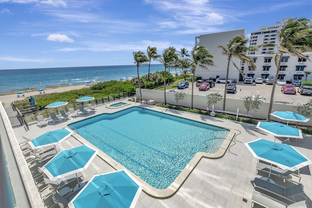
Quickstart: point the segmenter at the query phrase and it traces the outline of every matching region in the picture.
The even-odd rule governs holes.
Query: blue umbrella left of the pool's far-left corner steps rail
[[[68,129],[59,129],[52,132],[46,132],[44,134],[41,134],[40,136],[32,139],[29,142],[29,145],[33,149],[43,148],[51,145],[55,145],[63,141],[64,139],[67,139],[73,134],[72,131],[69,131]]]

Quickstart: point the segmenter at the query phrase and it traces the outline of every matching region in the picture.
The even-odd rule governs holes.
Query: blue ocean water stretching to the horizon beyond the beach
[[[150,73],[163,71],[162,64],[153,64]],[[148,74],[148,65],[139,67],[139,75]],[[0,95],[29,88],[41,89],[54,86],[80,85],[100,81],[137,77],[136,65],[88,66],[43,69],[0,70]]]

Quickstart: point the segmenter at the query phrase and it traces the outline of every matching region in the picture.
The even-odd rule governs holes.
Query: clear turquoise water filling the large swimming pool
[[[197,152],[216,152],[229,130],[132,107],[71,124],[79,135],[156,189],[166,189]],[[215,132],[217,131],[217,132]]]

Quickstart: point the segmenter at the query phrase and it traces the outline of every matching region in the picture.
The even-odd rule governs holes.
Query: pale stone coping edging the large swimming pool
[[[134,106],[131,105],[131,106],[127,106],[127,107],[130,108],[130,107],[134,107]],[[148,108],[149,106],[145,105],[144,107]],[[153,107],[155,107],[155,106],[153,106]],[[148,109],[149,110],[154,110],[154,111],[160,112],[160,113],[166,113],[166,114],[171,114],[171,115],[175,115],[175,116],[178,116],[178,117],[185,118],[185,117],[183,117],[180,114],[164,112],[165,108],[161,108],[161,107],[157,107],[157,108],[153,108],[153,109],[148,108]],[[183,112],[183,111],[177,111],[177,112],[183,113],[184,115],[194,114],[194,113]],[[108,114],[112,114],[112,113],[108,113]],[[104,162],[106,162],[108,165],[110,165],[112,168],[114,168],[115,170],[128,170],[130,172],[130,174],[133,177],[135,177],[137,179],[137,181],[143,186],[143,191],[146,194],[148,194],[149,196],[152,196],[154,198],[170,198],[180,189],[180,187],[183,185],[184,181],[188,178],[188,176],[191,174],[191,172],[195,169],[196,165],[199,163],[201,158],[204,157],[204,158],[209,158],[209,159],[218,159],[218,158],[222,157],[226,153],[228,148],[230,147],[230,144],[231,144],[231,142],[232,142],[232,140],[234,139],[234,136],[235,136],[235,132],[232,129],[229,129],[229,128],[226,128],[226,127],[223,127],[223,126],[220,126],[220,125],[214,125],[214,124],[212,124],[212,123],[210,123],[208,121],[203,122],[203,121],[200,121],[200,120],[195,120],[194,118],[190,118],[190,117],[188,117],[187,119],[191,119],[191,120],[194,120],[194,121],[197,121],[197,122],[201,122],[201,123],[213,125],[213,126],[216,126],[216,127],[228,129],[230,132],[228,133],[227,137],[224,139],[222,145],[220,146],[220,148],[219,148],[219,150],[217,152],[215,152],[215,153],[197,152],[195,154],[195,156],[191,159],[191,161],[186,165],[186,167],[176,177],[174,182],[166,189],[156,189],[156,188],[152,187],[151,185],[146,183],[144,180],[139,178],[137,175],[132,173],[130,170],[128,170],[125,167],[123,167],[120,163],[118,163],[116,160],[111,158],[109,155],[105,154],[103,151],[99,150],[96,146],[91,144],[89,141],[85,140],[79,134],[74,133],[72,136],[74,138],[76,138],[80,143],[88,144],[91,147],[93,147],[96,150],[98,150],[98,157],[100,159],[102,159]]]

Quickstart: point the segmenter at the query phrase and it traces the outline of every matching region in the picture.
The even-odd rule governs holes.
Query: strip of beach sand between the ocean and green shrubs
[[[88,88],[89,86],[86,86],[85,84],[82,85],[70,85],[70,86],[57,86],[57,87],[46,87],[44,91],[45,94],[50,94],[50,93],[61,93],[61,92],[66,92],[66,91],[71,91],[71,90],[79,90],[82,88]],[[4,108],[8,108],[11,106],[13,101],[16,100],[23,100],[25,99],[25,102],[28,102],[28,98],[30,95],[39,95],[40,92],[38,92],[38,89],[30,89],[27,91],[24,91],[24,94],[19,94],[20,97],[18,97],[18,94],[6,94],[6,95],[0,95],[0,102],[3,104]],[[23,96],[24,95],[24,96]]]

